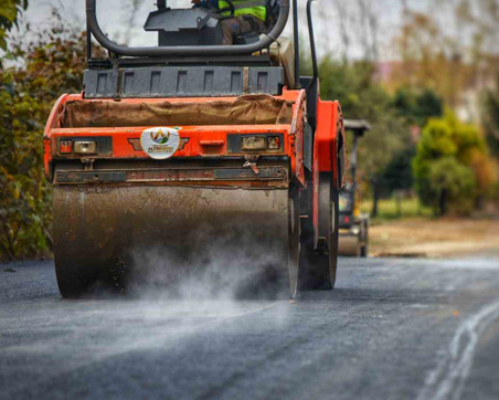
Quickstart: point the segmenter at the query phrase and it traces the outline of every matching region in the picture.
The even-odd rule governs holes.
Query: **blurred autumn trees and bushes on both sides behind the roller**
[[[127,7],[136,11],[140,3],[128,0]],[[385,209],[394,217],[470,214],[490,204],[493,210],[499,0],[437,0],[432,13],[401,3],[390,60],[380,56],[382,1],[330,0],[326,10],[337,11],[335,34],[343,46],[321,56],[321,96],[339,99],[346,118],[372,125],[359,154],[363,207],[374,217]],[[43,126],[61,94],[82,90],[85,69],[85,34],[63,23],[56,10],[41,29],[18,29],[26,8],[25,0],[0,0],[0,259],[6,260],[50,254]],[[456,30],[445,29],[450,22]],[[351,56],[355,40],[361,54]],[[304,74],[310,74],[307,41]]]

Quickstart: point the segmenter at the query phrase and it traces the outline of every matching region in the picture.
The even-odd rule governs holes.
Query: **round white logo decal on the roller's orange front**
[[[142,131],[140,145],[144,152],[156,160],[166,160],[176,154],[180,146],[180,128],[150,128]]]

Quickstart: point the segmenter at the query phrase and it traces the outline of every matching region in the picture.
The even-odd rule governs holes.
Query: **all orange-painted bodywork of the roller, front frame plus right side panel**
[[[307,115],[306,91],[288,91],[284,88],[280,96],[276,98],[293,103],[293,122],[290,125],[236,125],[236,126],[183,126],[181,137],[188,139],[182,149],[179,149],[173,158],[220,158],[227,156],[227,135],[230,134],[284,134],[284,150],[277,156],[287,156],[290,162],[291,176],[304,188],[307,187],[304,170],[304,122]],[[88,137],[88,136],[110,136],[113,137],[113,152],[110,156],[97,157],[104,159],[148,159],[148,156],[134,145],[140,139],[140,134],[150,128],[144,127],[106,127],[106,128],[63,128],[60,116],[64,112],[64,106],[71,101],[95,102],[85,99],[83,94],[62,95],[55,103],[45,126],[44,139],[44,169],[49,180],[52,179],[53,162],[57,159],[67,160],[79,158],[75,156],[62,156],[57,152],[56,144],[60,138]],[[99,102],[114,102],[114,99],[98,99]],[[120,102],[127,103],[187,103],[187,102],[211,102],[212,97],[195,98],[124,98]],[[235,97],[221,97],[216,101],[235,101]],[[318,101],[317,107],[317,129],[314,143],[312,159],[312,183],[314,183],[314,227],[318,227],[319,221],[319,173],[332,172],[335,185],[339,189],[343,185],[343,177],[338,176],[338,152],[340,150],[340,137],[344,143],[344,130],[342,126],[342,114],[338,102]],[[343,146],[344,151],[344,146]]]

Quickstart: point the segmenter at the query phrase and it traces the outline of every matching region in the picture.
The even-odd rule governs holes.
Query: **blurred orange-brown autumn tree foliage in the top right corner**
[[[432,10],[405,9],[395,38],[401,62],[389,85],[429,87],[463,118],[479,122],[477,94],[499,72],[499,0],[439,0]]]

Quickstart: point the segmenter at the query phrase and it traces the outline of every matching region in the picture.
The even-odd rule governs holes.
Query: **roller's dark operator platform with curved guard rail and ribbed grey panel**
[[[294,43],[280,38],[290,1],[295,6]],[[158,32],[158,44],[136,48],[113,42],[103,32],[96,2],[86,0],[85,98],[276,96],[284,87],[299,87],[297,0],[266,0],[267,32],[236,38],[233,45],[222,45],[221,23],[234,11],[198,6],[174,9],[166,0],[157,0],[157,9],[144,28]],[[231,0],[225,2],[232,4]],[[109,57],[93,56],[92,39],[109,52]]]

